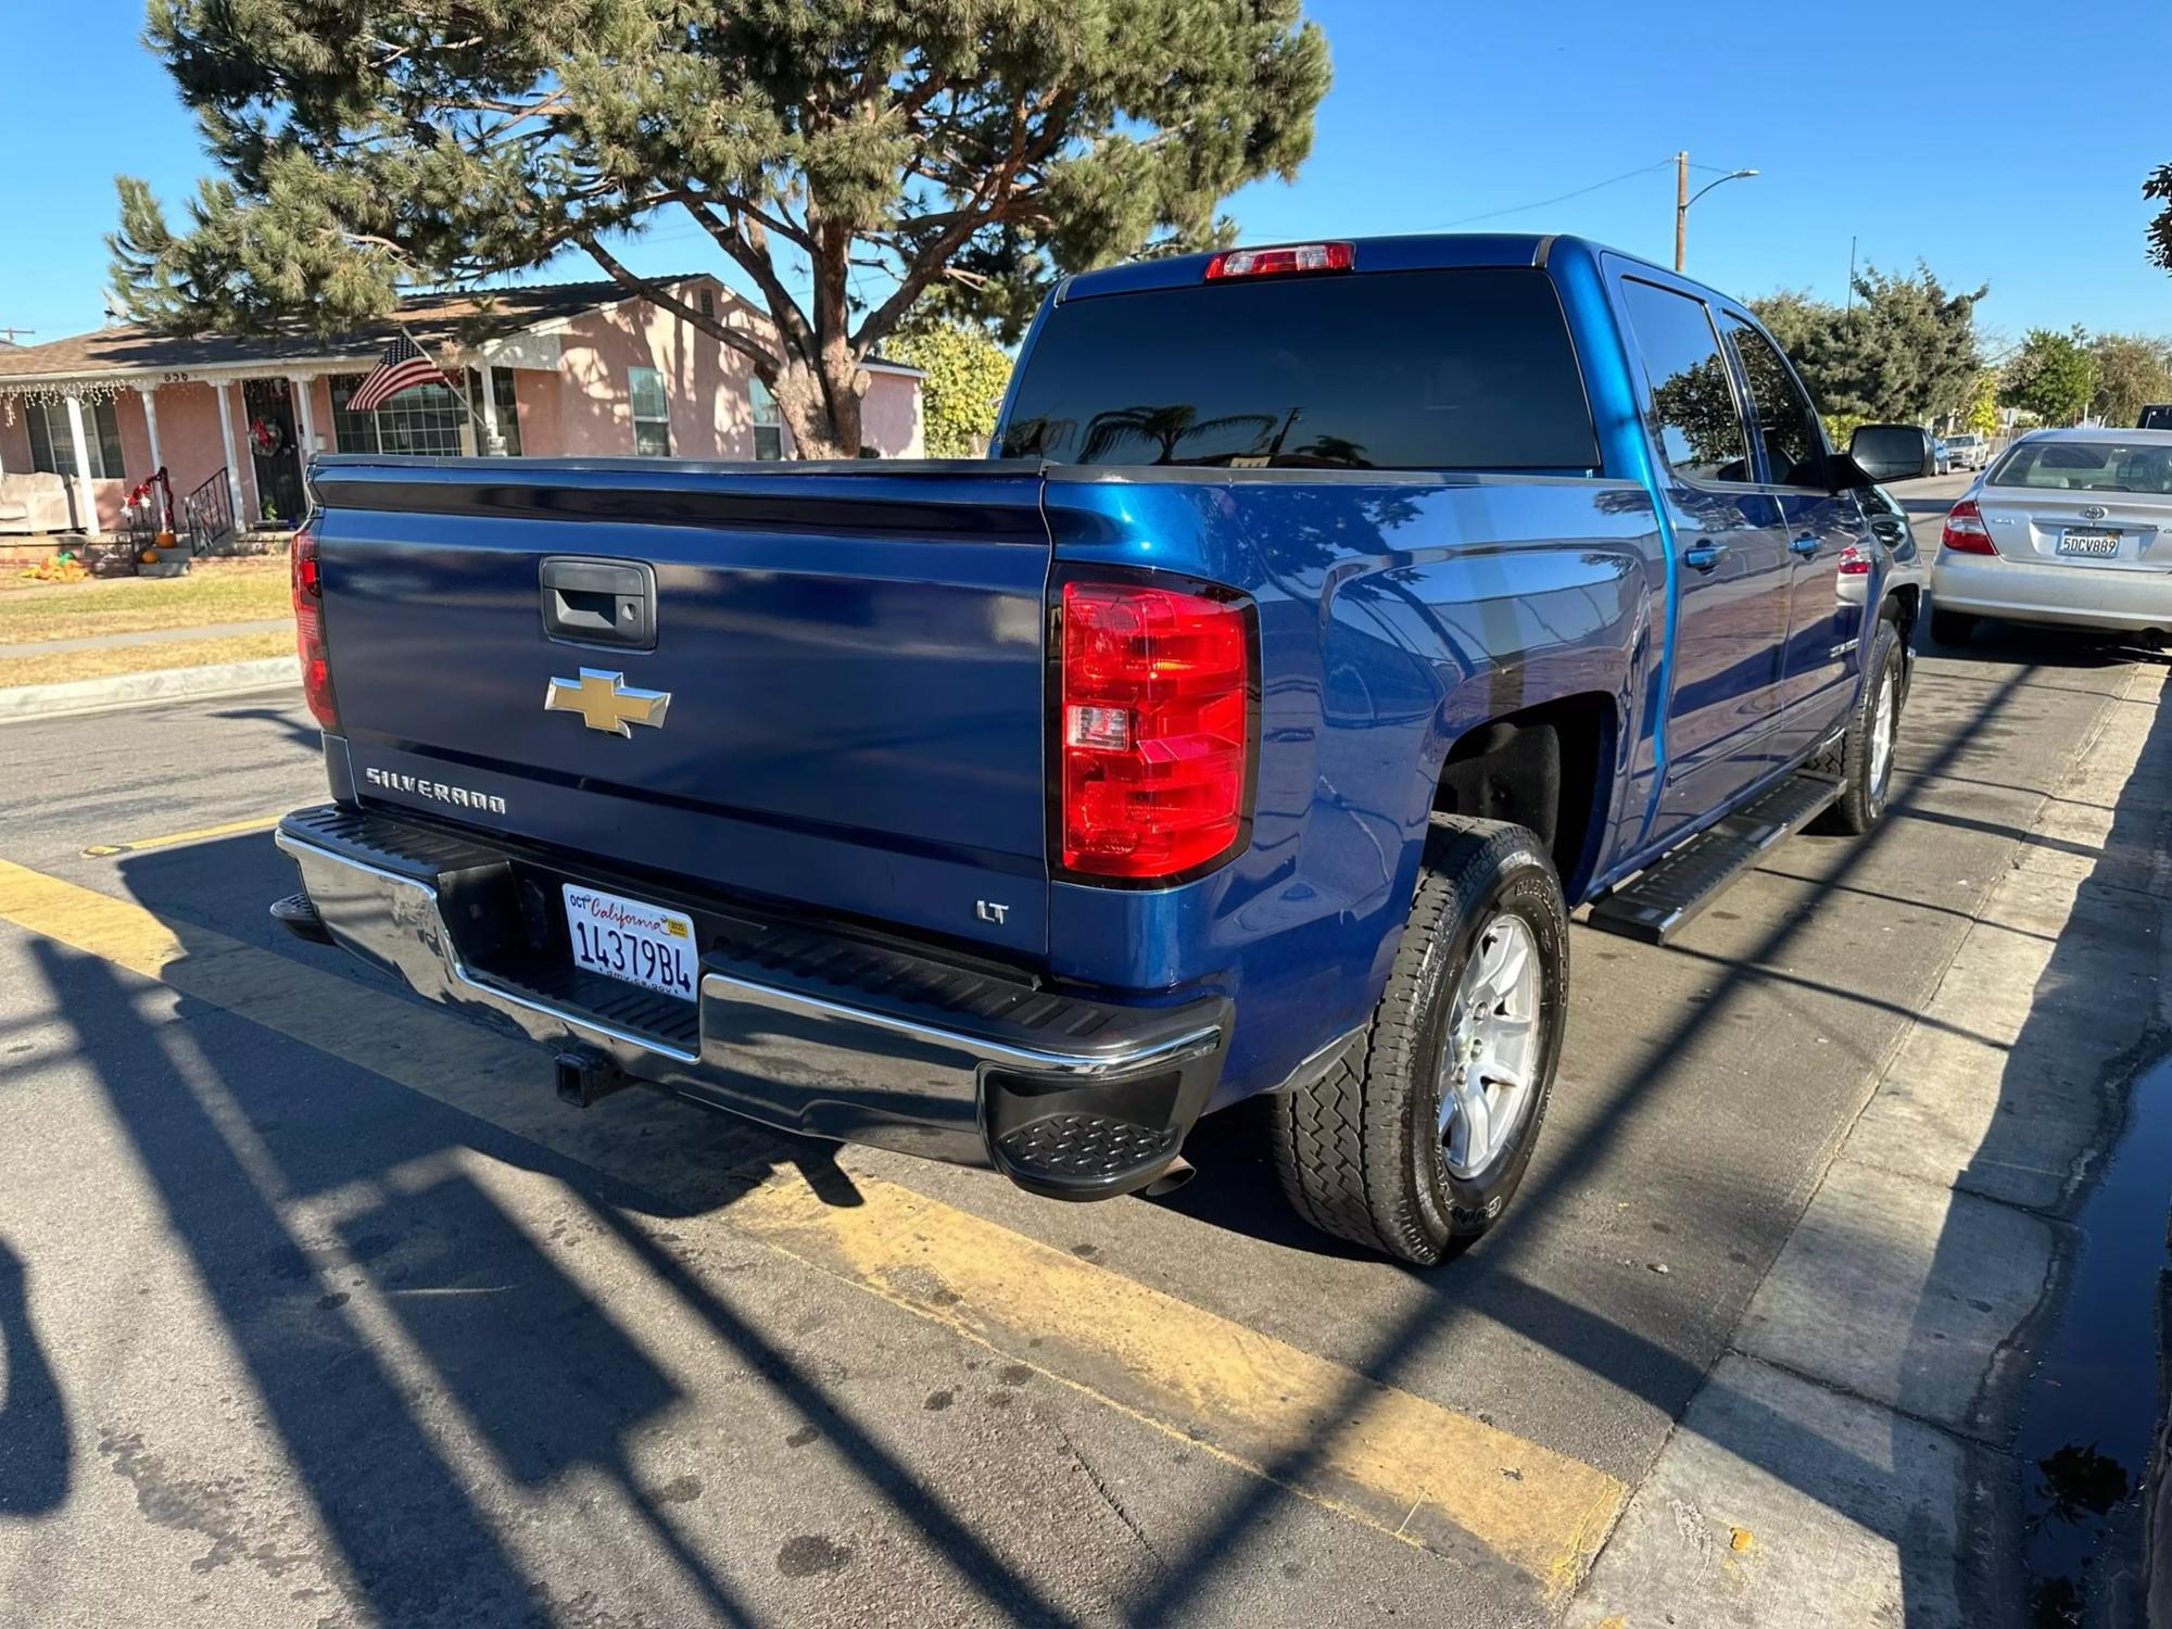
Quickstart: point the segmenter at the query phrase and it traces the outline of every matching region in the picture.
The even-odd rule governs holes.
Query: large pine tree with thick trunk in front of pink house
[[[146,39],[217,176],[178,228],[119,180],[137,319],[332,334],[582,252],[743,352],[808,454],[858,452],[860,363],[914,306],[1014,337],[1053,274],[1227,241],[1329,76],[1301,0],[152,0]],[[658,219],[771,332],[628,269]]]

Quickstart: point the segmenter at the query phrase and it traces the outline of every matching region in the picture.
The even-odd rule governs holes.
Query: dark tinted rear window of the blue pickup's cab
[[[1025,358],[1006,458],[1223,469],[1599,463],[1544,272],[1201,282],[1069,300]]]

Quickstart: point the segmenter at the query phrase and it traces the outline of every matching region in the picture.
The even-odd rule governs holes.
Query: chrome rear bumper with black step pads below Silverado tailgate
[[[332,943],[417,995],[786,1132],[995,1164],[1066,1199],[1175,1160],[1221,1073],[1229,1001],[1129,1006],[886,945],[762,923],[421,821],[298,810],[278,845]],[[571,969],[556,886],[695,912],[693,1003]],[[523,884],[528,897],[523,899]]]

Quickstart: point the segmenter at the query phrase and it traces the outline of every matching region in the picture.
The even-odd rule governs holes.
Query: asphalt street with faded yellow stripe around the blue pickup
[[[1247,1114],[1056,1205],[563,1108],[269,925],[293,693],[0,725],[0,1627],[1555,1622],[2135,660],[1927,652],[1877,834],[1579,927],[1533,1173],[1436,1273]]]

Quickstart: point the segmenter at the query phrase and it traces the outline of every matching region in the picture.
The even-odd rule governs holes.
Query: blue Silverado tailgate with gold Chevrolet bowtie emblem
[[[326,460],[315,493],[363,801],[1045,949],[1030,465]],[[547,560],[652,567],[654,647],[554,634]],[[545,708],[584,669],[599,717]],[[626,689],[669,695],[660,725],[608,728]]]

